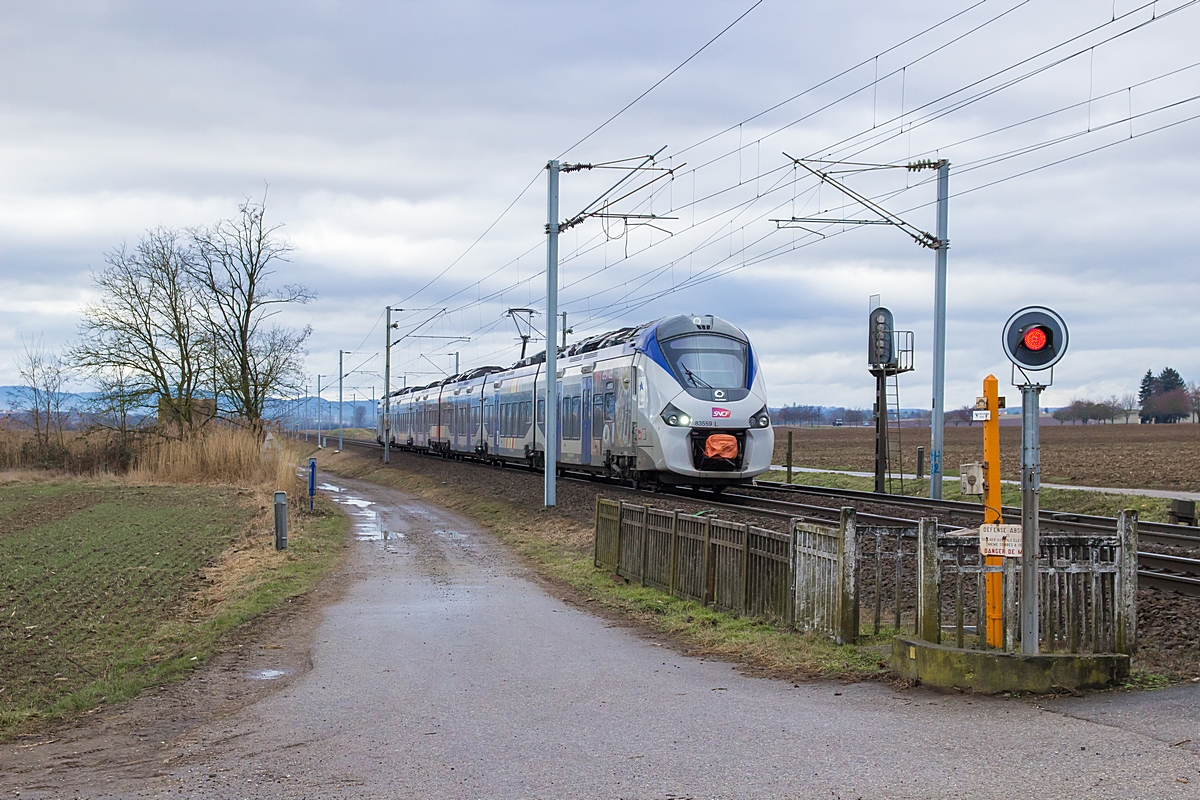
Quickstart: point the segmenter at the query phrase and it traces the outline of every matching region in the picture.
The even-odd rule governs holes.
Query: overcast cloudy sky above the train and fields
[[[266,186],[295,247],[277,278],[318,297],[286,317],[312,325],[313,375],[346,349],[347,385],[382,386],[389,302],[446,308],[421,333],[469,339],[397,345],[397,385],[455,350],[511,363],[504,309],[545,297],[546,161],[664,146],[673,176],[637,176],[659,180],[613,212],[666,218],[562,239],[576,337],[713,313],[750,333],[773,405],[869,407],[881,294],[916,335],[901,403],[928,408],[934,253],[892,227],[772,219],[872,217],[785,152],[948,158],[948,408],[989,372],[1008,385],[1001,327],[1030,303],[1070,326],[1049,405],[1136,391],[1147,368],[1200,379],[1200,6],[763,0],[570,149],[751,4],[0,2],[0,384],[22,337],[72,341],[106,252]],[[560,217],[619,176],[564,175]],[[935,229],[931,173],[840,178]]]

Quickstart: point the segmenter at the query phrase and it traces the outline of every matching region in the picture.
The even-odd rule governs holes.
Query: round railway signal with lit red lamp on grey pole
[[[1021,652],[1038,652],[1038,505],[1042,492],[1039,398],[1054,383],[1054,366],[1067,351],[1067,323],[1044,306],[1008,318],[1001,343],[1021,390]],[[1021,373],[1018,383],[1016,373]],[[1034,373],[1031,375],[1030,373]]]

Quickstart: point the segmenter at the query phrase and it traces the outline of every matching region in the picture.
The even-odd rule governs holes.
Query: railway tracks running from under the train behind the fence
[[[383,450],[383,446],[374,441],[361,439],[347,439],[347,445],[355,447]],[[526,469],[527,467],[514,465],[511,468]],[[529,470],[533,471],[533,470]],[[593,482],[593,476],[577,476],[566,473],[560,480]],[[623,488],[629,489],[629,486]],[[834,522],[840,517],[840,505],[874,505],[895,506],[924,511],[925,513],[912,517],[893,517],[888,515],[860,511],[857,516],[860,524],[881,527],[912,527],[916,528],[918,519],[923,516],[936,516],[937,511],[950,512],[955,516],[974,516],[983,521],[983,511],[973,503],[960,503],[954,500],[931,500],[928,498],[912,498],[899,495],[880,497],[872,492],[858,492],[854,489],[830,489],[818,486],[800,486],[775,483],[773,481],[755,481],[754,489],[763,489],[776,495],[810,494],[833,498],[840,501],[839,506],[826,506],[811,503],[799,503],[797,500],[784,499],[782,497],[757,497],[742,492],[726,491],[718,499],[708,492],[694,492],[685,489],[667,491],[666,494],[680,497],[690,500],[701,500],[704,505],[714,509],[730,509],[732,511],[754,512],[756,515],[776,517],[782,519],[804,518],[812,522]],[[646,494],[655,494],[652,489],[638,489]],[[1012,506],[1003,509],[1006,516],[1020,518],[1021,510]],[[1060,512],[1044,511],[1040,519],[1048,527],[1075,533],[1100,533],[1116,529],[1117,521],[1112,517],[1097,517],[1091,515],[1064,515]],[[953,530],[960,525],[938,523],[940,529]],[[1140,542],[1168,545],[1171,547],[1183,547],[1200,552],[1200,528],[1186,525],[1168,525],[1164,523],[1140,522],[1138,523],[1138,537]],[[1138,582],[1144,587],[1154,587],[1166,591],[1176,591],[1190,596],[1200,596],[1200,558],[1188,558],[1182,555],[1166,555],[1160,553],[1138,553]]]

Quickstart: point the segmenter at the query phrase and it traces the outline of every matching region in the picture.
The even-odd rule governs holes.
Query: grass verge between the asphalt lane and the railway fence
[[[492,531],[541,577],[569,589],[580,602],[596,603],[670,637],[692,655],[737,661],[766,674],[793,679],[859,680],[886,672],[890,633],[847,646],[766,620],[716,612],[598,570],[592,560],[592,529],[557,512],[529,511],[514,503],[464,493],[396,465],[384,468],[376,458],[358,452],[323,451],[318,463],[330,473],[398,488],[462,513]]]

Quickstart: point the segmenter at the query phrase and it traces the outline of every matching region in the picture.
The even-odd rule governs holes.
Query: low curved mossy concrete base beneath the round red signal
[[[960,650],[898,636],[892,642],[892,672],[935,688],[980,694],[1104,688],[1129,678],[1129,656],[1118,654],[1027,656],[992,650]]]

